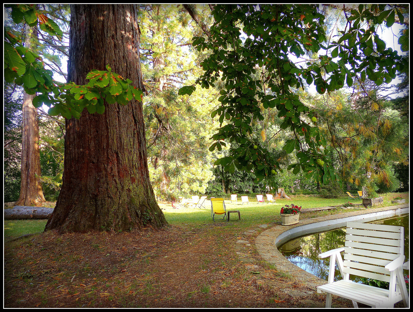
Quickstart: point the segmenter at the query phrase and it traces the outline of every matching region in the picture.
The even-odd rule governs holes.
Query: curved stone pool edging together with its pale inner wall
[[[292,264],[281,254],[278,247],[297,237],[345,227],[347,221],[357,222],[363,220],[363,222],[371,222],[408,213],[409,205],[404,204],[303,219],[291,226],[277,225],[261,232],[255,239],[255,246],[264,260],[274,264],[280,271],[291,274],[305,282],[310,288],[316,290],[317,286],[324,285],[327,281]]]

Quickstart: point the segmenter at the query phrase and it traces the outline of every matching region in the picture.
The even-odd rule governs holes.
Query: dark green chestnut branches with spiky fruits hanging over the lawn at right
[[[284,150],[297,150],[299,162],[289,168],[301,169],[307,178],[326,183],[337,179],[330,159],[325,154],[326,140],[317,127],[315,111],[300,100],[294,88],[304,88],[314,82],[320,94],[332,92],[353,81],[366,77],[377,85],[390,82],[396,71],[407,66],[396,51],[385,49],[377,33],[377,26],[386,22],[390,27],[394,16],[402,14],[396,6],[359,5],[358,10],[345,12],[347,24],[338,38],[329,42],[325,29],[326,14],[317,5],[217,5],[212,14],[215,22],[208,38],[195,37],[193,45],[199,50],[213,50],[202,67],[205,73],[197,84],[203,88],[225,82],[219,101],[221,106],[211,116],[228,120],[213,138],[211,150],[225,146],[224,140],[236,142],[231,156],[217,160],[228,171],[255,169],[257,180],[268,179],[275,186],[274,173],[280,170],[279,161],[270,150],[252,140],[251,121],[263,120],[264,109],[276,107],[283,119],[282,129],[289,128],[294,138],[285,142]],[[247,38],[243,41],[242,35]],[[319,53],[317,61],[298,64],[307,53]],[[268,90],[253,74],[261,70],[266,76]],[[191,94],[195,85],[180,89],[180,94]],[[368,94],[366,94],[369,97]],[[324,162],[325,160],[325,162]],[[294,171],[293,171],[294,172]]]

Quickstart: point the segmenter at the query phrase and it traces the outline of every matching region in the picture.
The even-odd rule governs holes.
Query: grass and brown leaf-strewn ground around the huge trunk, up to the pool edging
[[[382,194],[384,205],[396,196]],[[297,196],[275,204],[231,204],[230,222],[212,222],[207,209],[180,208],[160,203],[169,226],[132,232],[66,233],[43,231],[46,220],[6,220],[4,306],[24,307],[323,307],[325,295],[262,260],[256,251],[259,224],[280,221],[286,203],[303,208],[348,202],[347,197],[321,199]],[[361,202],[351,201],[354,203]],[[312,218],[351,210],[303,213]],[[248,244],[236,243],[237,240]],[[242,245],[242,246],[240,246]],[[241,249],[240,249],[241,248]],[[285,289],[313,291],[292,297]],[[334,298],[333,307],[352,307]]]

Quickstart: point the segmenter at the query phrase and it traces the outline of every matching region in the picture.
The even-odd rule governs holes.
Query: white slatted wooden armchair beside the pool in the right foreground
[[[344,251],[344,261],[340,252]],[[331,307],[331,296],[338,295],[371,307],[394,307],[396,302],[408,305],[408,293],[403,277],[404,228],[383,224],[347,222],[344,247],[323,252],[319,258],[330,256],[328,283],[317,287],[318,293],[327,293],[325,307]],[[337,261],[342,280],[334,281]],[[389,282],[389,290],[356,283],[349,275]]]

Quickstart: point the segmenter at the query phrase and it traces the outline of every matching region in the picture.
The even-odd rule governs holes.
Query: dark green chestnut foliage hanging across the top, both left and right
[[[15,23],[39,25],[59,40],[63,32],[53,18],[35,5],[6,5]],[[330,95],[344,86],[361,86],[367,102],[374,96],[364,88],[369,80],[375,85],[389,83],[397,72],[406,72],[408,60],[380,38],[379,26],[404,24],[407,5],[358,5],[343,7],[344,29],[334,33],[328,25],[328,6],[285,5],[215,5],[209,29],[207,20],[188,5],[191,17],[199,25],[192,46],[205,51],[200,63],[204,73],[195,83],[180,88],[178,95],[191,95],[196,85],[219,90],[220,105],[211,113],[221,127],[212,136],[210,150],[220,151],[229,144],[229,154],[216,160],[225,171],[254,170],[256,182],[278,185],[282,171],[280,154],[254,136],[254,122],[270,117],[279,119],[279,127],[292,137],[282,141],[286,154],[296,151],[297,162],[286,169],[318,183],[339,180],[328,152],[328,137],[320,131],[320,112],[300,96],[297,90],[314,83],[320,95]],[[330,28],[329,28],[330,27]],[[408,32],[400,37],[403,49]],[[408,42],[408,40],[407,40]],[[23,86],[29,94],[40,93],[33,104],[50,107],[50,115],[79,118],[84,108],[90,114],[102,114],[104,101],[126,105],[140,100],[145,90],[131,85],[108,66],[107,71],[91,71],[84,86],[58,83],[52,71],[45,69],[42,58],[26,49],[21,38],[5,32],[5,80]],[[156,55],[155,55],[156,57]],[[180,81],[182,83],[183,81]],[[158,107],[159,108],[159,107]],[[171,106],[172,108],[172,106]],[[370,105],[371,108],[371,105]],[[273,116],[271,109],[278,112]],[[166,115],[165,115],[166,116]],[[266,131],[261,129],[261,133]],[[268,134],[268,133],[267,133]],[[226,143],[225,143],[226,142]],[[377,168],[376,168],[377,169]]]

